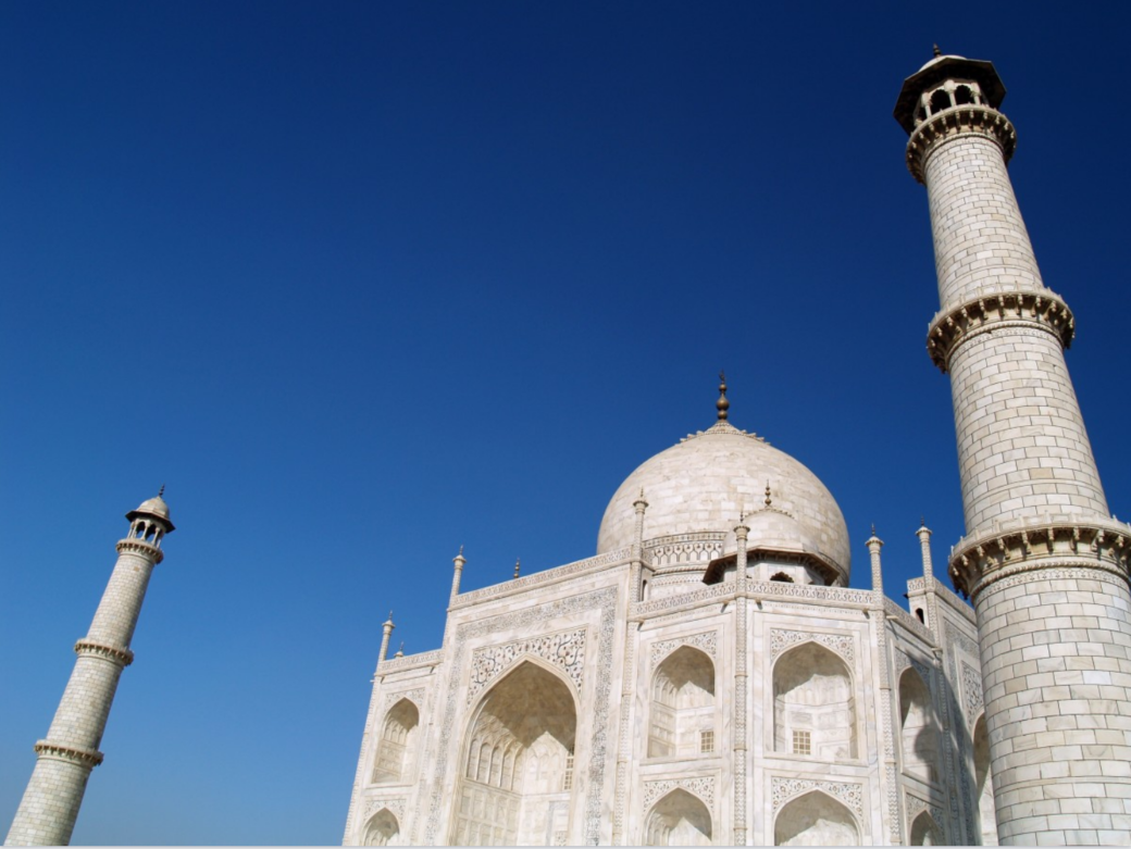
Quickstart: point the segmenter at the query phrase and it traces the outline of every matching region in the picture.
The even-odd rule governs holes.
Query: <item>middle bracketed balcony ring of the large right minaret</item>
[[[1055,336],[1065,348],[1072,344],[1076,319],[1059,295],[1044,292],[983,294],[948,312],[940,312],[927,331],[926,349],[946,374],[958,344],[1003,328],[1031,328]]]

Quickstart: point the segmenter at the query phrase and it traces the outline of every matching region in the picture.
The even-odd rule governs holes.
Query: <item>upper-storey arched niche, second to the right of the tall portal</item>
[[[774,751],[844,761],[857,756],[856,699],[848,667],[806,642],[774,665]]]

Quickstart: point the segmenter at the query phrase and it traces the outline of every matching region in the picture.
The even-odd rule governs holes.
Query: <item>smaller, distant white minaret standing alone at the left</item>
[[[164,487],[162,487],[164,492]],[[19,803],[6,846],[66,846],[83,804],[90,770],[102,763],[102,733],[122,669],[133,660],[130,640],[153,568],[172,532],[161,495],[126,514],[129,535],[118,543],[118,563],[98,603],[90,631],[75,643],[78,658],[38,760]]]

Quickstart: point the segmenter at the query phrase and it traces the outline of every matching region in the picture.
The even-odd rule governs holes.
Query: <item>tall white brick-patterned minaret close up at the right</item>
[[[1131,843],[1131,529],[1114,521],[1064,364],[1072,313],[1041,279],[1005,163],[1017,136],[990,62],[939,55],[896,120],[927,189],[1002,843]],[[939,639],[946,639],[933,623]],[[972,718],[973,720],[974,718]]]

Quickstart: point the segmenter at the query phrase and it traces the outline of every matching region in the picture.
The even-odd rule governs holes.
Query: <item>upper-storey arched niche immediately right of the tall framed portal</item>
[[[715,664],[682,646],[656,667],[648,722],[649,757],[696,757],[715,751]]]

